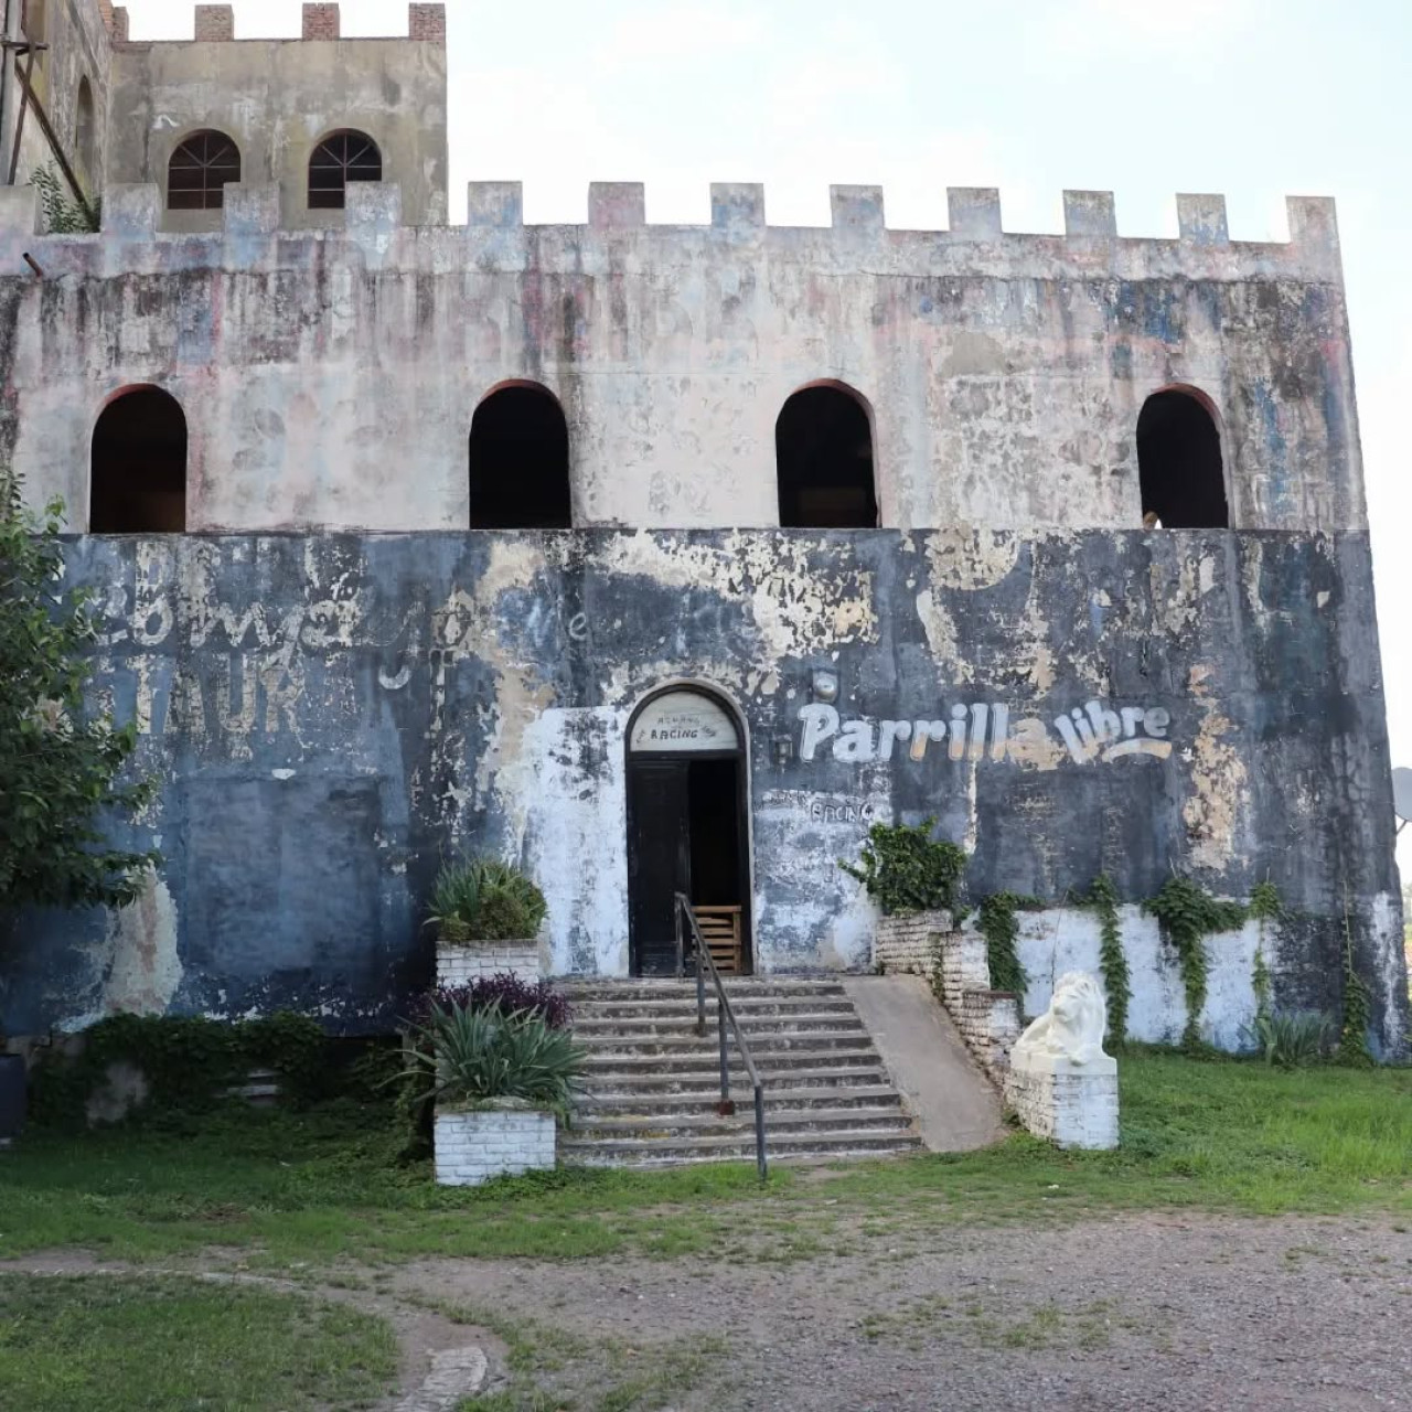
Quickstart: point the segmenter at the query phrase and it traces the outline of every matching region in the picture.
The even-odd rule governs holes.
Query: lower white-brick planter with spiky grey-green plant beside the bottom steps
[[[415,1100],[435,1103],[439,1185],[479,1186],[554,1166],[558,1123],[568,1120],[585,1060],[558,1015],[568,1012],[548,1004],[503,1010],[442,990],[409,1027],[407,1072]]]

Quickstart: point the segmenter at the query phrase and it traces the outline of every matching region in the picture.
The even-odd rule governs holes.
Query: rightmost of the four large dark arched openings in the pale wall
[[[1148,528],[1230,528],[1221,435],[1195,388],[1168,387],[1142,404],[1138,480]]]

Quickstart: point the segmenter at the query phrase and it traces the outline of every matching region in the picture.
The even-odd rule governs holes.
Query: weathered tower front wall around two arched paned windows
[[[330,133],[352,127],[381,150],[383,175],[400,185],[407,223],[445,225],[446,41],[443,25],[438,30],[387,40],[120,44],[109,179],[158,185],[164,230],[219,230],[219,210],[165,209],[172,152],[210,127],[240,148],[241,181],[280,186],[281,226],[340,226],[343,212],[309,209],[309,155]]]

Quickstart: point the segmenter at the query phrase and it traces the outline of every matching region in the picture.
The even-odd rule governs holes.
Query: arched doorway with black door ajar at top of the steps
[[[685,892],[722,971],[751,970],[746,740],[734,712],[668,688],[627,731],[628,964],[676,973],[675,895]]]

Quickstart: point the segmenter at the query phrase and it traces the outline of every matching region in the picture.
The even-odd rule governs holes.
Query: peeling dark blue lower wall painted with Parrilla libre
[[[120,1005],[385,1022],[431,976],[422,901],[460,846],[538,877],[555,971],[624,973],[624,729],[686,679],[747,729],[761,969],[866,966],[871,909],[836,860],[873,819],[936,815],[976,897],[1060,902],[1107,871],[1137,902],[1173,866],[1247,897],[1269,875],[1289,1005],[1336,1008],[1347,898],[1378,1035],[1402,1042],[1361,535],[80,538],[71,563],[103,594],[102,689],[162,775],[137,832],[167,866],[116,922],[27,919],[0,980],[16,1031]],[[1172,970],[1127,931],[1135,974]],[[1248,945],[1213,945],[1219,997]]]

